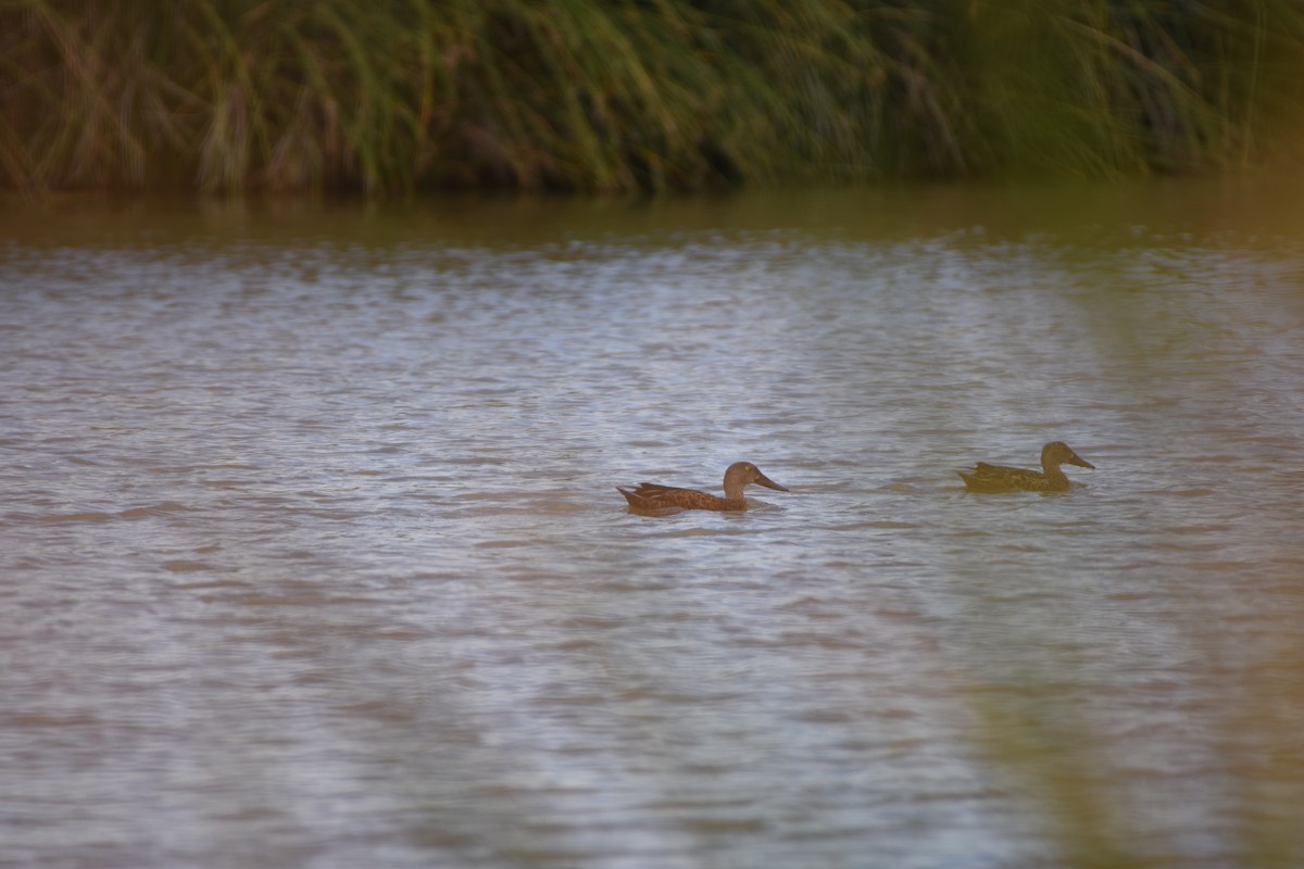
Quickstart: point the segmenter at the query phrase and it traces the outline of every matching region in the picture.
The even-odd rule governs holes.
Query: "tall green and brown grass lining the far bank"
[[[1253,159],[1294,0],[13,0],[10,186],[558,189]]]

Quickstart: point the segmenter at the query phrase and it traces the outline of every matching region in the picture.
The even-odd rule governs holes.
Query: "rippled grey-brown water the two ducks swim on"
[[[1297,202],[10,207],[0,862],[1304,864]]]

